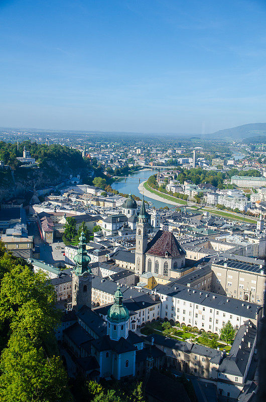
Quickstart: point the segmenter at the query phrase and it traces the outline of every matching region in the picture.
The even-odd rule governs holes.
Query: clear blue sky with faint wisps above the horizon
[[[265,26],[264,0],[0,0],[0,126],[265,122]]]

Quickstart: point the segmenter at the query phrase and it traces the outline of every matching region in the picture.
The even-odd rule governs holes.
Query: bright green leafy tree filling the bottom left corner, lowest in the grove
[[[11,336],[0,367],[2,402],[72,400],[61,359],[48,358],[43,348],[37,349],[28,337],[19,333]]]

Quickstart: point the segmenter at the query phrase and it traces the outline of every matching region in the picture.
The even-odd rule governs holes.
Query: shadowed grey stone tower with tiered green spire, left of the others
[[[76,267],[72,275],[72,308],[78,310],[83,305],[91,308],[91,270],[90,257],[86,251],[86,238],[81,232],[78,253],[74,257]]]

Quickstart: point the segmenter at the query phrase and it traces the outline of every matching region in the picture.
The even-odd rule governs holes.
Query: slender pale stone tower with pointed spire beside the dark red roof
[[[141,275],[145,272],[145,251],[148,245],[148,214],[145,209],[144,197],[138,216],[136,230],[135,272]]]

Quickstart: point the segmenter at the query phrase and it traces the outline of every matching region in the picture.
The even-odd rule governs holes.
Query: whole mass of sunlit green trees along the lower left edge
[[[54,288],[42,273],[5,252],[0,243],[0,399],[71,400],[54,328]]]

